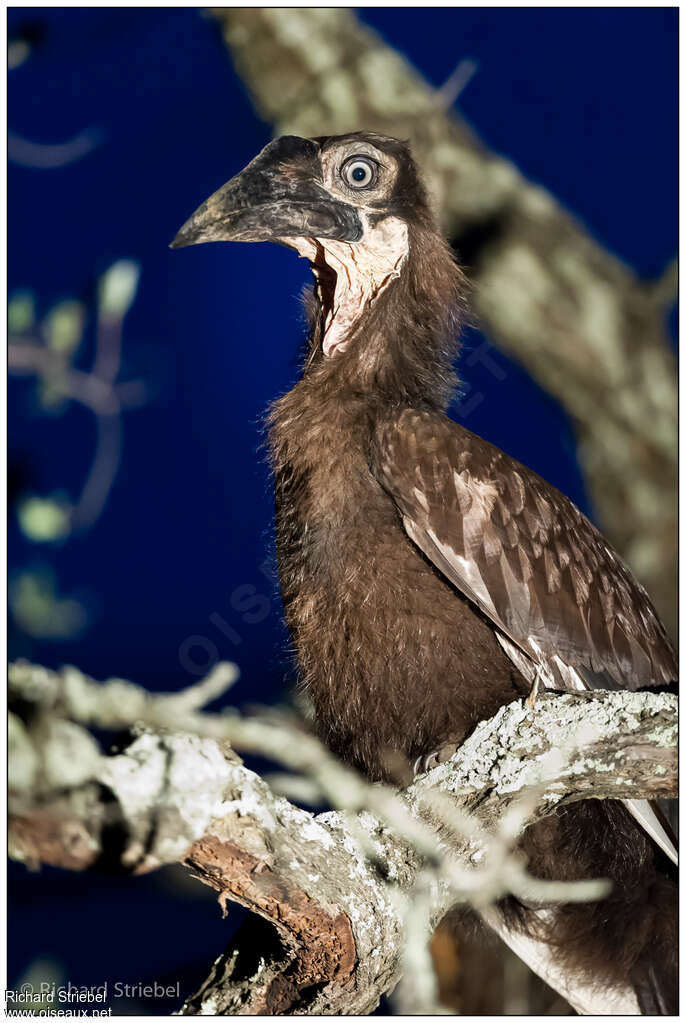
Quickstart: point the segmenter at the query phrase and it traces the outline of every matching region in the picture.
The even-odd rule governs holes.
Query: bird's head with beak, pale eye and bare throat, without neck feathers
[[[345,351],[364,312],[397,279],[413,229],[432,226],[409,146],[370,132],[286,135],[186,221],[173,248],[277,241],[309,259],[321,351]]]

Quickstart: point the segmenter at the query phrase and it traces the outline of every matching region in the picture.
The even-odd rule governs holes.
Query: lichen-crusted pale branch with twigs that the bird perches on
[[[488,911],[507,892],[544,903],[603,895],[602,881],[528,875],[513,853],[528,824],[569,800],[676,794],[670,695],[511,704],[401,793],[369,785],[286,718],[202,711],[234,676],[221,665],[184,693],[153,696],[74,668],[17,663],[9,672],[15,858],[132,873],[179,861],[222,903],[271,925],[256,946],[261,925],[250,919],[251,933],[238,933],[186,1014],[370,1012],[398,983],[407,948],[421,948],[456,901]],[[138,736],[103,756],[88,724],[135,725]],[[286,782],[307,781],[312,798],[336,809],[293,805],[232,747],[279,761]],[[598,1009],[598,992],[564,994]]]

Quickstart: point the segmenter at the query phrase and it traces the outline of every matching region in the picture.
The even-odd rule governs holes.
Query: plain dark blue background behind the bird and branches
[[[676,9],[374,8],[362,16],[437,87],[458,60],[476,59],[459,102],[485,141],[640,276],[660,273],[677,249]],[[152,392],[126,414],[121,471],[90,533],[38,549],[10,520],[10,570],[49,562],[63,592],[91,594],[94,618],[61,643],[14,632],[10,653],[173,690],[194,678],[179,651],[199,635],[240,665],[236,701],[274,699],[287,658],[273,583],[261,571],[271,496],[260,420],[296,373],[307,267],[269,246],[167,248],[270,128],[196,9],[13,8],[8,18],[10,38],[39,28],[31,57],[10,73],[10,130],[53,143],[87,128],[102,136],[65,168],[10,165],[9,292],[33,290],[41,312],[66,297],[94,310],[99,274],[115,260],[138,261],[125,375],[145,376]],[[468,351],[479,343],[470,335]],[[463,421],[592,514],[564,415],[504,356],[494,358],[504,379],[465,366],[470,394],[483,398]],[[46,419],[34,392],[31,382],[10,384],[10,465],[32,491],[76,496],[92,418],[73,408]],[[271,602],[259,624],[245,621],[251,592]],[[193,653],[201,660],[199,648]],[[14,975],[38,954],[84,983],[174,975],[193,957],[201,970],[228,933],[213,906],[171,898],[155,879],[13,877]],[[139,926],[125,938],[132,917]],[[87,927],[97,941],[84,941]]]

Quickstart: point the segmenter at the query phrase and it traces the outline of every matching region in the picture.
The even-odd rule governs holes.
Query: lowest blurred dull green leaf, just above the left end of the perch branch
[[[18,575],[9,587],[9,606],[18,627],[37,639],[72,639],[88,624],[81,602],[57,595],[50,570]]]

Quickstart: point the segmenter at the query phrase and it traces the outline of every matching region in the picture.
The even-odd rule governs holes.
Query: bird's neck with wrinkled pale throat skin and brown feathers
[[[312,244],[312,243],[311,243]],[[465,281],[435,230],[387,218],[365,241],[317,242],[303,380],[310,400],[445,409]]]

